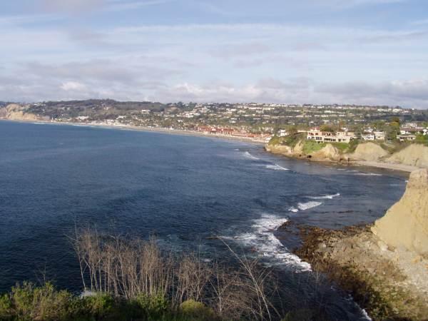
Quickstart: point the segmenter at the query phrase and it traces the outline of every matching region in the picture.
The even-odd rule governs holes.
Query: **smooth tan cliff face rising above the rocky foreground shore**
[[[427,169],[410,174],[403,197],[374,223],[372,232],[389,246],[428,256]]]

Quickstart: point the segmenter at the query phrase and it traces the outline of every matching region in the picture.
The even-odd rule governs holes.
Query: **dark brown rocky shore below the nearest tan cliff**
[[[370,227],[328,230],[290,221],[280,228],[297,228],[302,244],[292,253],[337,282],[374,320],[426,320],[425,288],[417,285],[428,261],[402,249],[388,248]],[[414,270],[416,265],[419,274]]]

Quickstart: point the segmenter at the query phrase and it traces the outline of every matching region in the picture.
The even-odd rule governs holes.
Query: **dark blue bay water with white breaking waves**
[[[280,158],[246,143],[0,121],[0,290],[41,274],[78,290],[66,235],[88,223],[156,233],[162,245],[199,246],[208,256],[222,245],[207,237],[222,235],[292,283],[307,265],[275,238],[277,225],[372,222],[399,199],[405,179]],[[325,304],[338,315],[350,313],[331,300]]]

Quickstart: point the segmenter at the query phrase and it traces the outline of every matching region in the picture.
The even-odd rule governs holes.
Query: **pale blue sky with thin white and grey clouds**
[[[0,101],[86,98],[428,108],[428,1],[0,1]]]

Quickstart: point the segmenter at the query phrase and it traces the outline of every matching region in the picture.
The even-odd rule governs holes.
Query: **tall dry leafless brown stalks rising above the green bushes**
[[[270,270],[226,243],[238,263],[233,268],[205,263],[199,253],[165,253],[153,238],[127,240],[87,228],[76,229],[71,240],[86,291],[126,300],[162,297],[172,309],[193,300],[223,320],[280,319],[271,303],[276,289]]]

